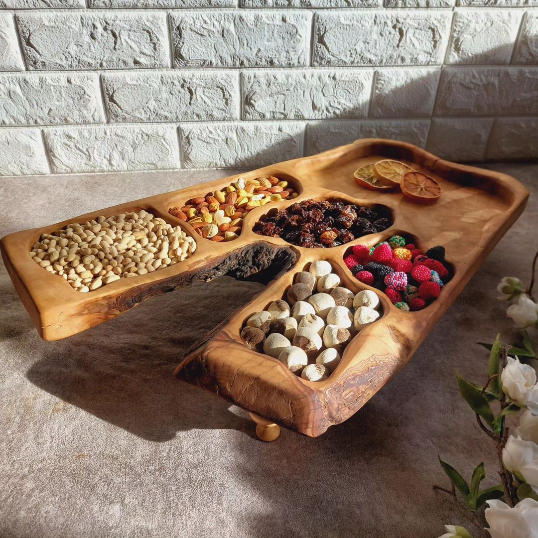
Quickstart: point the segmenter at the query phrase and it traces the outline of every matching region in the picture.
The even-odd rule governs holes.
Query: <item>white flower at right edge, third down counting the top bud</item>
[[[522,407],[538,415],[538,385],[532,366],[521,364],[516,357],[508,357],[508,364],[501,373],[502,392]]]

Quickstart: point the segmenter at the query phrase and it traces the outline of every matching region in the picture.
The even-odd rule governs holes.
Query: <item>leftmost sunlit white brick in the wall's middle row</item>
[[[0,75],[0,125],[104,121],[97,73]]]

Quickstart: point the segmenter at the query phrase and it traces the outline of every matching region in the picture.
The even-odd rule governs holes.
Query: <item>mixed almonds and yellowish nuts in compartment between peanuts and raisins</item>
[[[295,198],[287,181],[269,178],[239,178],[222,190],[187,200],[183,207],[173,207],[168,213],[188,222],[202,237],[211,241],[231,241],[241,232],[243,218],[256,207],[269,202]]]

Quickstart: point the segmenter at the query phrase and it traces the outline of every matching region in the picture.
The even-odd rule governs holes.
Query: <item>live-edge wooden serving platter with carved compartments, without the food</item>
[[[401,160],[432,176],[442,187],[441,198],[431,206],[421,206],[405,199],[399,191],[375,192],[356,185],[353,172],[381,158]],[[168,209],[229,185],[238,176],[100,209],[46,228],[2,238],[5,265],[40,336],[45,340],[65,338],[122,314],[154,295],[223,274],[267,282],[261,294],[198,342],[175,374],[268,421],[315,437],[332,424],[348,419],[407,363],[430,328],[521,214],[528,197],[527,190],[505,174],[457,165],[410,144],[380,139],[357,140],[313,157],[247,172],[241,177],[254,179],[270,175],[286,179],[299,192],[299,197],[253,209],[244,220],[240,236],[230,242],[215,243],[198,236],[189,224],[170,215]],[[381,204],[392,213],[393,225],[383,232],[331,249],[306,249],[252,231],[254,223],[273,208],[281,209],[313,198],[346,200],[366,206]],[[58,275],[44,271],[29,255],[42,233],[98,215],[108,217],[138,209],[149,210],[174,226],[180,225],[196,240],[196,252],[166,269],[120,279],[89,293],[75,291]],[[412,237],[423,250],[434,245],[445,246],[454,276],[427,308],[402,312],[376,291],[381,298],[383,317],[352,339],[337,369],[327,380],[318,383],[301,379],[279,360],[243,345],[239,332],[245,320],[272,301],[285,298],[295,272],[307,268],[313,260],[330,261],[342,285],[353,293],[368,289],[345,267],[343,254],[353,244],[374,245],[395,233]]]

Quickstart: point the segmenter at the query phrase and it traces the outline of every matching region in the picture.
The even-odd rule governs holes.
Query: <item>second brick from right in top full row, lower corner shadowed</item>
[[[454,13],[446,63],[509,63],[521,15],[503,10]]]

